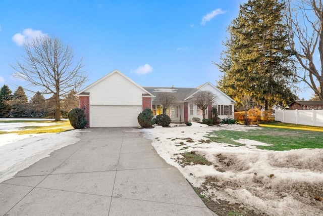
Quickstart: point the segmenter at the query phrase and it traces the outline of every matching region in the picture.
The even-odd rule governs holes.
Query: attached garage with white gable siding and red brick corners
[[[89,127],[140,126],[138,114],[151,109],[155,96],[118,70],[115,70],[78,92]]]

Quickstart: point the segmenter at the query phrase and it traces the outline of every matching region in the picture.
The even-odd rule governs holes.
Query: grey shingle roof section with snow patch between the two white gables
[[[188,96],[198,91],[196,88],[168,88],[168,87],[143,87],[150,94],[156,96],[155,101],[159,101],[158,95],[163,92],[176,94],[176,101],[184,101]]]

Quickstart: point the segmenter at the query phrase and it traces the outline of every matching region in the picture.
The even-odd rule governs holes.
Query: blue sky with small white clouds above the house
[[[0,85],[12,77],[24,40],[59,37],[83,57],[89,81],[118,69],[142,86],[216,84],[226,28],[247,0],[0,1]],[[309,96],[304,96],[308,99]]]

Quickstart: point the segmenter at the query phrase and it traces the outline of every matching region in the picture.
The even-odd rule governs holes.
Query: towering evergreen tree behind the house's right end
[[[236,101],[247,95],[267,110],[294,100],[290,83],[295,74],[283,10],[279,0],[249,0],[229,26],[227,50],[217,64],[224,73],[218,86]]]

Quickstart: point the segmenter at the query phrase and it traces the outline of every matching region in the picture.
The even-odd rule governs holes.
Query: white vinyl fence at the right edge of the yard
[[[323,126],[323,110],[275,110],[275,120],[292,124]]]

